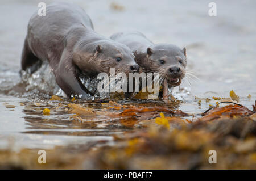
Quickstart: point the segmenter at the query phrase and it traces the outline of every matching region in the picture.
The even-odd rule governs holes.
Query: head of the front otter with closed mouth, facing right
[[[134,55],[126,45],[112,40],[104,40],[98,44],[80,46],[79,51],[73,54],[73,61],[86,74],[105,72],[110,74],[110,68],[115,68],[115,73],[137,72],[139,65],[134,60]]]

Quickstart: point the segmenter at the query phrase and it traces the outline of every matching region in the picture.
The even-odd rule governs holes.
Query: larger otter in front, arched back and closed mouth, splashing
[[[100,72],[137,71],[131,50],[117,41],[98,35],[89,16],[79,6],[53,3],[46,16],[32,15],[22,52],[22,70],[36,62],[48,61],[56,82],[68,96],[88,98],[80,74],[90,77]]]

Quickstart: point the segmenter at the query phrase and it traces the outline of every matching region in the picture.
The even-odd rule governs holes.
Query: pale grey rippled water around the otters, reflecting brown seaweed
[[[38,9],[38,2],[41,1],[1,1],[0,148],[48,148],[85,142],[97,142],[99,146],[113,144],[112,134],[122,133],[133,127],[106,115],[85,117],[85,121],[70,119],[72,113],[64,111],[64,108],[55,109],[59,102],[49,101],[51,96],[48,94],[58,92],[56,87],[53,92],[50,91],[53,90],[52,87],[48,89],[47,84],[54,85],[50,80],[39,81],[32,87],[15,86],[21,82],[20,55],[27,22]],[[184,99],[183,102],[166,105],[161,101],[123,100],[118,103],[161,105],[199,116],[209,108],[209,104],[216,103],[216,100],[205,102],[205,98],[228,98],[229,91],[234,90],[240,96],[240,103],[251,109],[256,99],[255,1],[214,1],[217,3],[216,17],[208,15],[208,2],[203,0],[114,1],[122,10],[113,9],[113,1],[73,2],[86,10],[96,32],[101,35],[109,37],[118,31],[138,30],[155,43],[187,47],[188,69],[200,81],[195,78],[189,79],[190,83],[184,81],[180,89],[185,87],[188,91],[181,94],[176,87],[174,95]],[[35,79],[42,80],[41,76],[38,75]],[[22,89],[26,91],[22,92]],[[250,99],[247,98],[249,94]],[[202,98],[201,105],[195,96]],[[70,101],[64,101],[64,104],[68,103]],[[102,109],[100,103],[80,103],[96,110]],[[44,108],[51,108],[51,115],[43,115]],[[192,116],[187,118],[192,119]],[[140,128],[142,119],[143,117],[135,121],[134,127]]]

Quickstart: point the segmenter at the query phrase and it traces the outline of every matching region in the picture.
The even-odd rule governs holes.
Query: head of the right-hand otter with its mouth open
[[[158,72],[159,78],[168,80],[169,86],[179,86],[185,77],[186,49],[171,44],[155,44],[143,54],[134,53],[143,71]]]

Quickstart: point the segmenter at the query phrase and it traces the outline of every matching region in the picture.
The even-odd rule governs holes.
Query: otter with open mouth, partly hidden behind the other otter
[[[187,66],[186,49],[172,44],[154,44],[141,32],[119,32],[110,39],[127,45],[144,72],[159,72],[163,99],[168,99],[168,86],[179,86]]]

